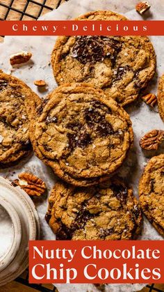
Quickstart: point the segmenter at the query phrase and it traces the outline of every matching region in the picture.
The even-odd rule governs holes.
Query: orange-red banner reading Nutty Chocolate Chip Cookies
[[[164,283],[162,240],[29,242],[30,283]]]

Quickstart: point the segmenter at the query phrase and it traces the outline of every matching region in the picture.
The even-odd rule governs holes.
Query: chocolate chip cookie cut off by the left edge
[[[8,167],[28,154],[26,99],[39,102],[38,95],[21,80],[0,70],[0,167]]]

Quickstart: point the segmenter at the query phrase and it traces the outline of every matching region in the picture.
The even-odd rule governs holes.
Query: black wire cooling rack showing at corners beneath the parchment
[[[0,20],[38,20],[38,17],[44,13],[48,13],[54,8],[58,8],[61,3],[68,0],[3,0],[0,1]],[[21,5],[19,5],[21,3]],[[14,290],[16,286],[17,290]],[[30,290],[28,290],[30,289]],[[10,286],[4,286],[3,292],[7,291],[42,291],[42,292],[58,292],[56,287],[51,284],[29,284],[28,270],[26,270],[20,277],[15,279]],[[0,288],[0,292],[1,292]],[[101,288],[101,291],[102,288]],[[105,290],[104,290],[105,291]],[[142,292],[164,292],[164,284],[149,284]]]

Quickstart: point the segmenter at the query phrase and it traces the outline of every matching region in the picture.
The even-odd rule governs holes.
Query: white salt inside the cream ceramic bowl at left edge
[[[14,237],[14,230],[10,216],[0,206],[0,259],[10,249]]]

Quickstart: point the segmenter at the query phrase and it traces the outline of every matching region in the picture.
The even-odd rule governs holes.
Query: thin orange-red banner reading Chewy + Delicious
[[[164,36],[164,21],[1,21],[1,36]]]

